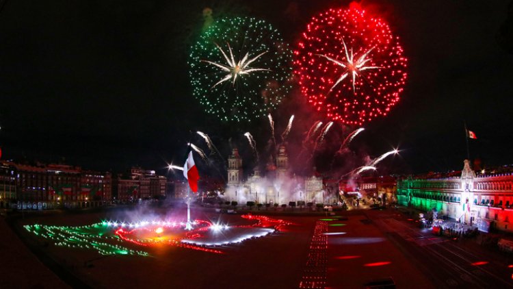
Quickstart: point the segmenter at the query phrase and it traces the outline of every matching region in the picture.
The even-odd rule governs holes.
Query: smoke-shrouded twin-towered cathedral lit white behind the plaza
[[[224,198],[245,204],[278,203],[304,201],[304,203],[324,203],[324,186],[321,177],[298,177],[289,170],[289,157],[285,146],[281,145],[276,155],[265,166],[265,175],[259,168],[254,169],[253,175],[244,179],[242,159],[237,149],[233,149],[228,157],[228,184]]]

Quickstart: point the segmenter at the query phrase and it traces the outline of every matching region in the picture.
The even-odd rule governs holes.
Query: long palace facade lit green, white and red
[[[464,223],[513,231],[513,174],[476,175],[469,160],[459,176],[408,177],[397,181],[397,198],[402,205],[438,210]]]

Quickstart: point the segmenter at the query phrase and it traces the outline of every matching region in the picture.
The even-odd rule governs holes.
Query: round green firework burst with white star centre
[[[222,121],[267,115],[291,89],[292,51],[269,23],[222,18],[189,55],[193,95]]]

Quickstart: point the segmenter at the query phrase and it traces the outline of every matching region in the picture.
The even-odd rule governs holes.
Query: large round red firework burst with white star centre
[[[301,91],[334,121],[361,125],[386,115],[406,84],[406,62],[389,25],[364,10],[312,18],[294,51]]]

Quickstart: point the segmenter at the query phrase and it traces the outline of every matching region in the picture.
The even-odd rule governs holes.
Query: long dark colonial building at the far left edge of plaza
[[[44,210],[105,205],[111,198],[110,173],[64,164],[0,164],[0,205]]]

